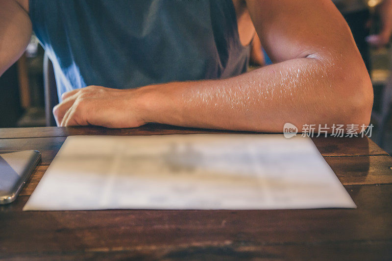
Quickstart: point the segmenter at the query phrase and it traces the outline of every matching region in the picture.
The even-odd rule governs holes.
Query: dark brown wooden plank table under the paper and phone
[[[223,133],[135,129],[0,129],[1,150],[42,153],[21,196],[0,207],[3,259],[392,260],[392,158],[368,138],[314,138],[358,209],[22,212],[69,135]]]

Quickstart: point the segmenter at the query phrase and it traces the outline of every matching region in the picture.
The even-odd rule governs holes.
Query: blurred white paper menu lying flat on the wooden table
[[[23,210],[356,208],[310,138],[71,136]]]

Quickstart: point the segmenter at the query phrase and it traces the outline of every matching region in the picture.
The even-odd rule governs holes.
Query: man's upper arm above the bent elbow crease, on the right
[[[274,62],[331,50],[356,52],[348,25],[330,0],[246,0],[246,5]]]

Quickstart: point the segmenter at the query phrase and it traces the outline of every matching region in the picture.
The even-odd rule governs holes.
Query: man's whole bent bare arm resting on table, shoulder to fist
[[[282,132],[286,122],[368,124],[373,99],[368,72],[331,1],[246,3],[275,64],[221,80],[75,90],[55,108],[59,122],[108,127],[159,122],[268,132]]]

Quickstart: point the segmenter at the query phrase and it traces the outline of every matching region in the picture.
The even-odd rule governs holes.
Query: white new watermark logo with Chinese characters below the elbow
[[[370,125],[359,125],[359,124],[333,124],[332,126],[327,126],[327,124],[303,124],[300,131],[301,137],[371,137],[371,132],[373,129],[373,124]],[[298,133],[298,128],[287,122],[283,126],[283,135],[285,138],[290,139],[296,136]]]

